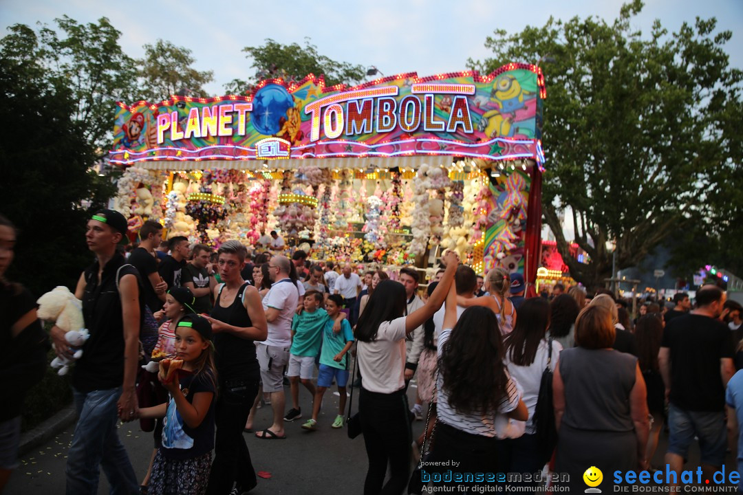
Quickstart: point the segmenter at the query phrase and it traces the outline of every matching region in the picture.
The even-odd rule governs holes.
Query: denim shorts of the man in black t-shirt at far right
[[[727,448],[727,428],[722,411],[687,411],[669,404],[668,452],[687,459],[694,437],[699,438],[701,462],[713,466],[724,465]]]

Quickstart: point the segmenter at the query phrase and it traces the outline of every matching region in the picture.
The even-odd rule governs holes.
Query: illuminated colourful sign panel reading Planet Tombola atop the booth
[[[400,74],[354,88],[261,82],[249,96],[118,104],[111,162],[449,155],[542,163],[539,68]]]

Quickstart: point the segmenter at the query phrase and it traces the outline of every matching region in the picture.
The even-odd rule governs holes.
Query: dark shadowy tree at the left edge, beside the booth
[[[48,71],[48,54],[30,27],[0,40],[1,213],[19,229],[8,277],[41,295],[74,287],[90,263],[85,221],[111,196],[111,183],[90,171],[88,120],[68,79]],[[85,203],[85,206],[83,206]]]

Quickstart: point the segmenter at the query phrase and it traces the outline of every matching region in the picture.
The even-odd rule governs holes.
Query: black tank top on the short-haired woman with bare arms
[[[215,320],[233,325],[233,327],[253,327],[250,315],[247,314],[247,309],[242,303],[242,295],[248,285],[250,284],[246,282],[240,287],[235,296],[235,301],[226,308],[219,304],[224,289],[224,286],[222,286],[219,289],[210,316]],[[214,335],[214,349],[216,351],[217,374],[220,380],[249,378],[251,375],[259,373],[256,345],[253,344],[252,339],[240,338],[229,332],[220,332]]]

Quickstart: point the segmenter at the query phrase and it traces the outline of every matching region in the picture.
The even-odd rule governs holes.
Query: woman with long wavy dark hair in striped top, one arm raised
[[[447,264],[448,266],[448,264]],[[457,321],[451,287],[438,336],[438,423],[432,462],[450,461],[456,473],[488,473],[497,465],[499,416],[526,421],[516,381],[503,362],[504,346],[493,311],[475,306]],[[457,485],[458,483],[454,483]],[[464,483],[465,491],[474,483]],[[461,488],[458,488],[461,490]]]

